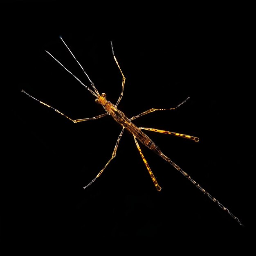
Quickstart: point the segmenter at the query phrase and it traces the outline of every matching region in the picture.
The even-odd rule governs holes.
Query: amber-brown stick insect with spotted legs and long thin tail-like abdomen
[[[61,37],[60,37],[61,38]],[[121,76],[122,76],[122,88],[121,88],[121,94],[117,100],[116,104],[112,104],[110,101],[107,101],[106,98],[106,94],[103,92],[101,95],[99,94],[97,88],[95,87],[94,83],[91,81],[90,77],[88,76],[88,74],[85,72],[85,70],[83,69],[82,65],[77,61],[76,57],[74,56],[74,54],[71,52],[71,50],[69,49],[69,47],[67,46],[67,44],[64,42],[64,40],[61,38],[62,42],[64,43],[65,47],[68,49],[68,51],[70,52],[70,54],[72,54],[73,58],[75,59],[76,63],[81,67],[81,69],[83,70],[84,74],[87,76],[88,80],[91,83],[92,89],[90,89],[87,85],[85,85],[84,83],[82,83],[74,74],[72,74],[72,72],[70,72],[69,70],[67,70],[66,67],[64,67],[63,64],[61,64],[56,58],[54,58],[54,56],[52,54],[50,54],[49,52],[47,52],[47,54],[49,54],[52,58],[54,58],[55,61],[58,62],[58,64],[60,64],[67,72],[69,72],[72,76],[74,76],[74,78],[76,80],[79,81],[79,83],[81,83],[92,95],[94,95],[97,99],[95,100],[96,103],[100,104],[101,106],[103,106],[104,110],[106,111],[106,113],[98,115],[96,117],[89,117],[89,118],[84,118],[84,119],[71,119],[70,117],[67,117],[65,114],[63,114],[62,112],[60,112],[59,110],[57,110],[56,108],[53,108],[52,106],[49,106],[48,104],[39,101],[38,99],[34,98],[33,96],[31,96],[30,94],[28,94],[27,92],[25,92],[24,90],[22,90],[22,92],[24,92],[25,94],[27,94],[27,96],[31,97],[32,99],[40,102],[41,104],[52,108],[53,110],[55,110],[58,114],[63,115],[64,117],[66,117],[67,119],[69,119],[70,121],[74,122],[74,123],[78,123],[78,122],[83,122],[83,121],[89,121],[89,120],[96,120],[99,119],[101,117],[105,117],[106,115],[110,115],[118,124],[121,125],[122,130],[117,138],[117,142],[115,144],[115,148],[114,151],[112,153],[111,158],[109,159],[109,161],[106,163],[106,165],[101,169],[101,171],[97,174],[97,176],[86,186],[83,187],[83,189],[86,189],[88,186],[90,186],[100,175],[101,173],[103,173],[103,171],[105,170],[105,168],[108,166],[108,164],[112,161],[112,159],[116,156],[116,152],[117,152],[117,147],[119,145],[119,141],[124,133],[124,130],[127,130],[128,132],[130,132],[130,134],[133,136],[133,139],[135,141],[135,144],[137,146],[137,149],[139,151],[139,154],[141,155],[141,158],[148,170],[148,173],[151,177],[151,179],[153,180],[153,183],[155,185],[155,188],[157,189],[157,191],[161,191],[161,187],[159,186],[159,184],[157,183],[157,180],[153,174],[153,172],[151,171],[147,160],[145,159],[141,148],[139,146],[139,142],[141,142],[142,144],[144,144],[146,147],[148,147],[150,150],[152,150],[154,153],[156,153],[157,155],[159,155],[160,157],[162,157],[166,162],[168,162],[169,164],[171,164],[175,169],[177,169],[177,171],[180,171],[180,173],[182,173],[182,175],[184,175],[188,180],[190,180],[198,189],[200,189],[200,191],[202,191],[205,195],[207,195],[207,197],[209,197],[213,202],[215,202],[221,209],[223,209],[224,211],[226,211],[234,220],[236,220],[241,226],[243,226],[243,224],[240,222],[240,220],[234,216],[226,207],[224,207],[218,200],[216,200],[212,195],[210,195],[205,189],[203,189],[197,182],[195,182],[195,180],[193,180],[185,171],[182,170],[182,168],[180,168],[180,166],[178,166],[177,164],[175,164],[173,161],[171,161],[171,159],[169,157],[167,157],[166,155],[164,155],[162,153],[162,151],[160,150],[160,148],[148,137],[148,135],[146,135],[142,130],[149,130],[152,132],[160,132],[160,133],[164,133],[164,134],[168,134],[168,135],[174,135],[177,137],[182,137],[182,138],[186,138],[186,139],[191,139],[195,142],[199,141],[198,137],[193,137],[191,135],[185,135],[185,134],[181,134],[178,132],[169,132],[166,130],[159,130],[159,129],[154,129],[154,128],[146,128],[146,127],[137,127],[135,124],[132,123],[132,120],[137,119],[138,117],[141,117],[143,115],[147,115],[151,112],[154,111],[163,111],[163,110],[175,110],[176,108],[180,107],[183,103],[185,103],[189,97],[184,100],[182,103],[180,103],[179,105],[177,105],[175,108],[151,108],[145,112],[142,112],[139,115],[136,115],[132,118],[128,118],[126,117],[126,115],[124,115],[123,112],[121,112],[117,106],[120,103],[122,96],[123,96],[123,92],[124,92],[124,84],[126,81],[126,78],[119,66],[119,63],[117,61],[117,58],[115,57],[115,53],[114,53],[114,48],[113,48],[113,44],[112,41],[111,43],[111,48],[112,48],[112,54],[115,60],[115,63],[117,64],[117,67],[119,68],[119,71],[121,72]]]

